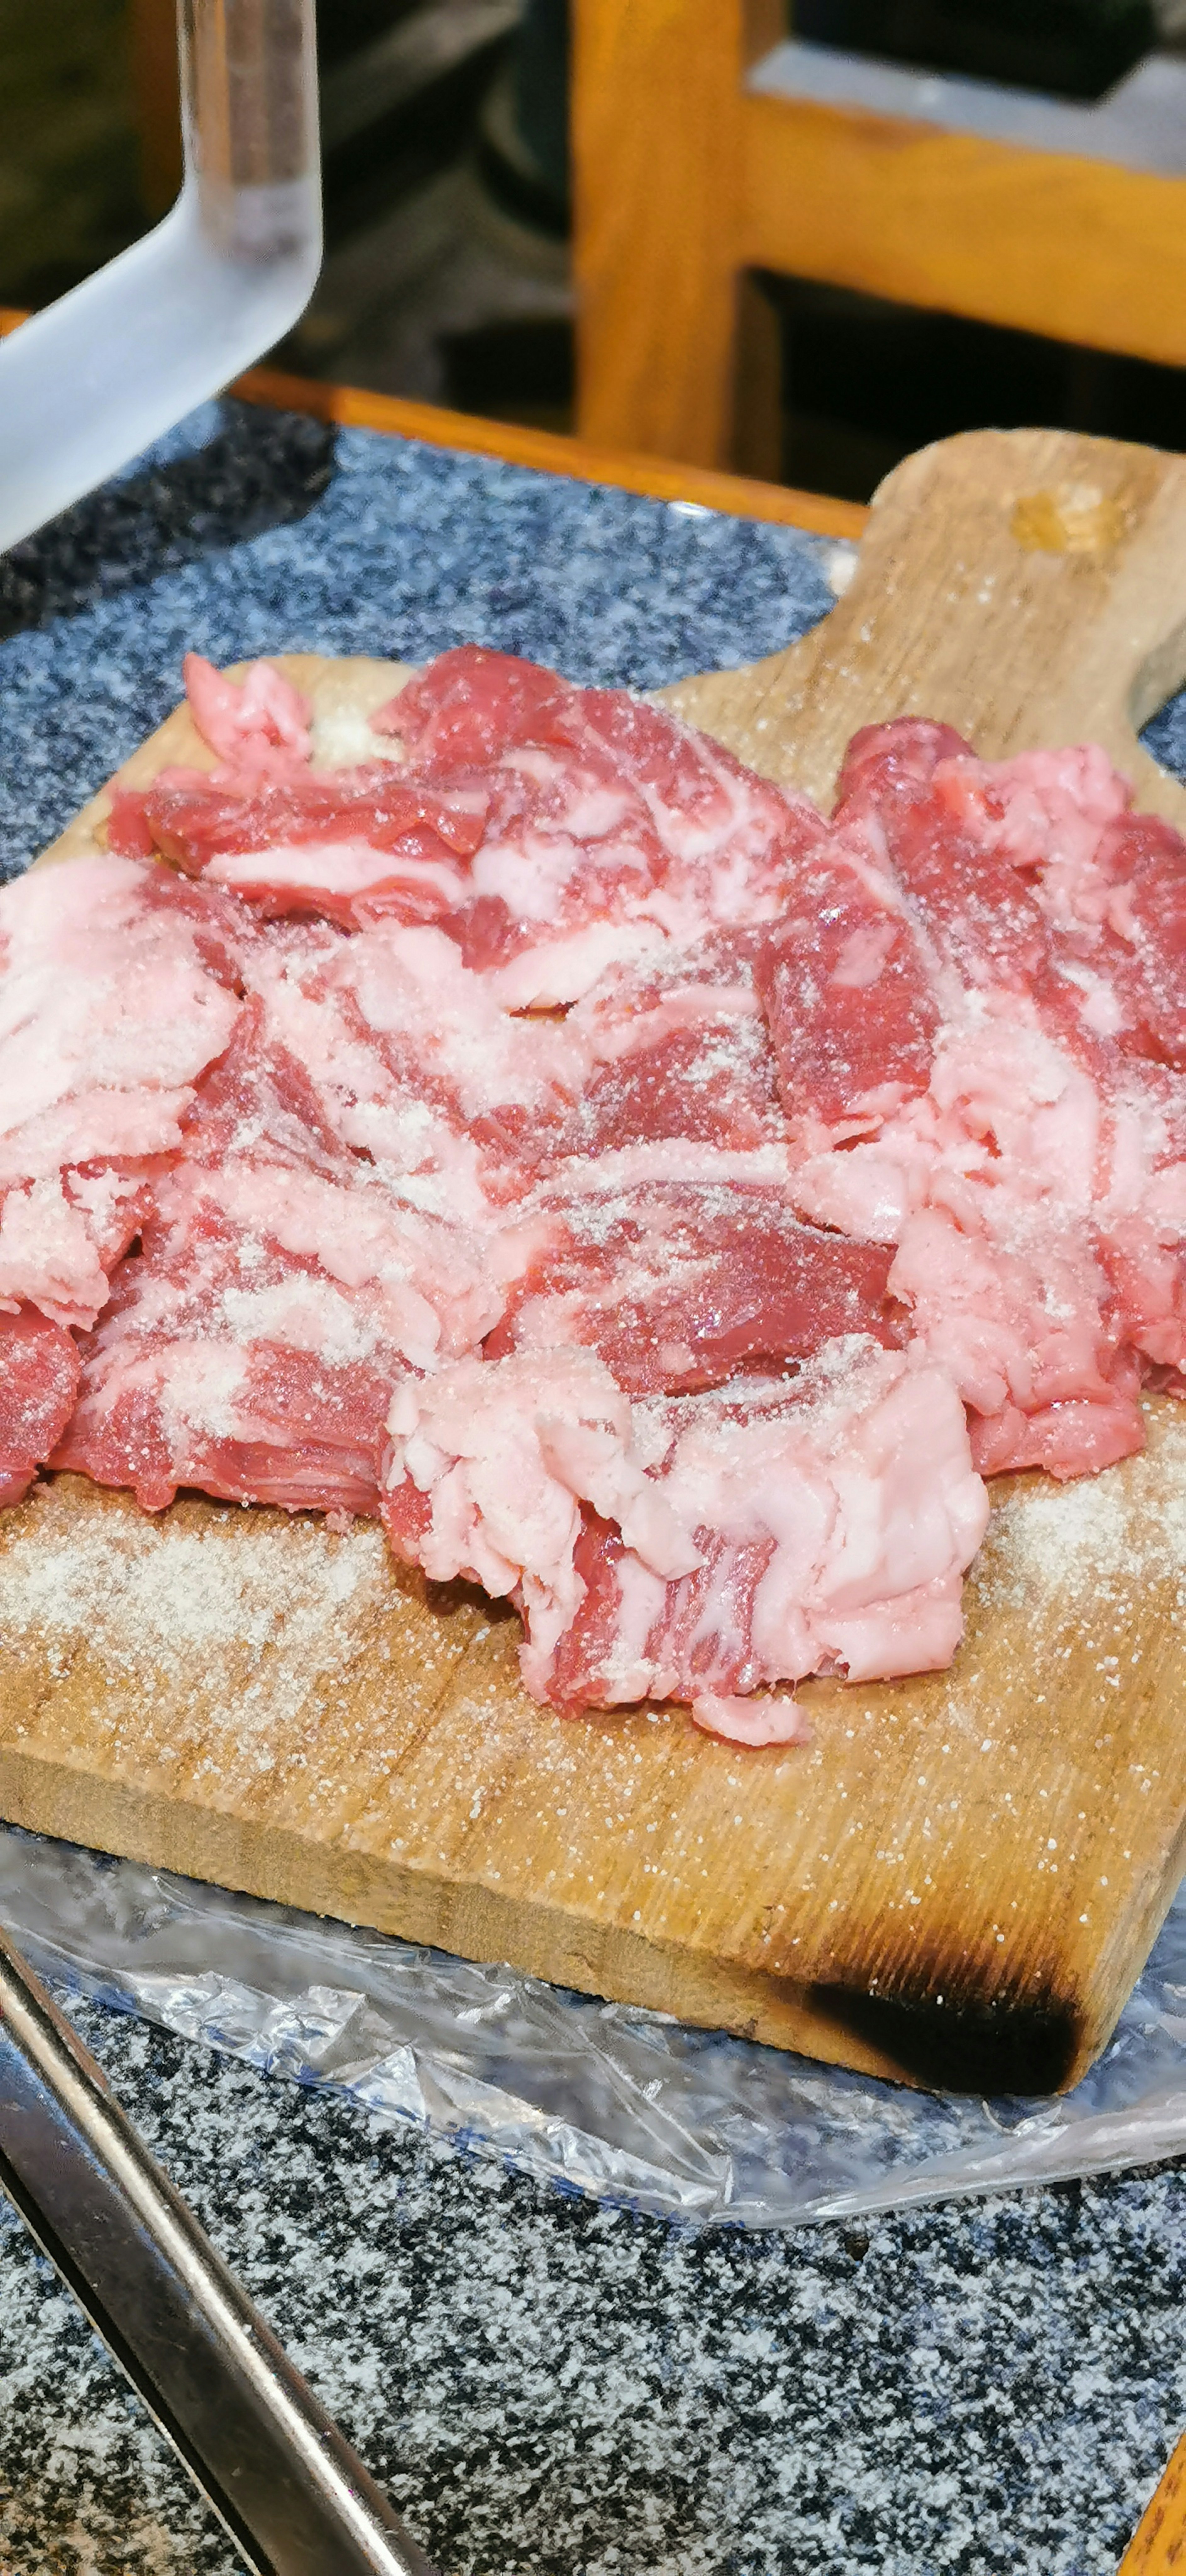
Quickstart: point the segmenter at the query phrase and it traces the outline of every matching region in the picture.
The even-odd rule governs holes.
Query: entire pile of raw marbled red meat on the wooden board
[[[188,683],[221,765],[0,896],[0,1502],[381,1507],[538,1698],[733,1741],[944,1664],[975,1471],[1186,1391],[1178,835],[916,719],[826,827],[481,649],[334,775],[268,665]]]

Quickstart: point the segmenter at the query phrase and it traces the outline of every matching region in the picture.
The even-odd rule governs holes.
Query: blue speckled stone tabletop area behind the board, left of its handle
[[[167,716],[188,647],[424,662],[468,639],[656,688],[803,634],[831,608],[823,554],[795,528],[208,404],[0,562],[0,866]]]

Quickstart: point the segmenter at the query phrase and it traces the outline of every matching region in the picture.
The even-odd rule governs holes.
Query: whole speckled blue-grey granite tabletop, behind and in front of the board
[[[746,659],[828,549],[211,404],[0,564],[0,873],[188,644],[584,680]],[[1186,768],[1186,716],[1155,750]],[[1186,2164],[798,2236],[687,2236],[72,2007],[219,2249],[450,2576],[1109,2576],[1186,2424]],[[0,2202],[0,2576],[232,2576]]]

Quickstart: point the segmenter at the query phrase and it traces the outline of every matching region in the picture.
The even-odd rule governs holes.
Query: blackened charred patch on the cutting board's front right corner
[[[936,2092],[1060,2092],[1083,2040],[1078,2002],[1047,1981],[985,1996],[942,1976],[918,1976],[895,1991],[836,1978],[810,1986],[808,2002],[913,2084]]]

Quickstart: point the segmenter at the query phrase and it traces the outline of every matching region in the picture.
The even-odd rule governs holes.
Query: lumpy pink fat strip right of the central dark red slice
[[[944,1028],[926,1097],[795,1175],[810,1218],[898,1244],[890,1293],[952,1370],[985,1471],[1078,1476],[1142,1445],[1099,1257],[1104,1151],[1086,1066],[1037,1020],[972,1010]]]

